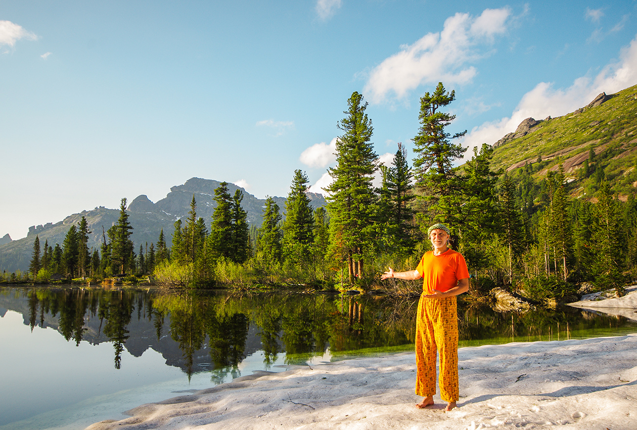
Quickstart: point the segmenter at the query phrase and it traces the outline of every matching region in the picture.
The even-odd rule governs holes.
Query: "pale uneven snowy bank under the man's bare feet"
[[[561,428],[637,422],[637,334],[459,349],[458,407],[415,408],[413,352],[257,372],[87,430]]]

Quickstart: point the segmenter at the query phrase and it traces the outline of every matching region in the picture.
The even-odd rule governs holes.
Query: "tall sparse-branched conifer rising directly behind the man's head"
[[[457,208],[460,206],[462,181],[452,163],[460,159],[466,148],[451,140],[461,138],[466,131],[451,135],[445,130],[455,115],[439,109],[452,103],[455,91],[447,92],[442,82],[433,94],[426,92],[420,97],[420,129],[413,138],[416,157],[413,159],[415,179],[419,194],[424,201],[424,212],[420,214],[424,228],[430,222],[440,221],[453,226],[457,224]]]

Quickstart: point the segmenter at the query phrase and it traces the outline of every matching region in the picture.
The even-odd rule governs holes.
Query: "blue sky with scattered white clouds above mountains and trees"
[[[470,158],[637,84],[637,1],[0,0],[0,237],[192,177],[320,192],[352,92],[390,164],[438,82]]]

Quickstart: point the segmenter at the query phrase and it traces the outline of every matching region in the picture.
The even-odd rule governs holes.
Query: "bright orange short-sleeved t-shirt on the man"
[[[422,291],[426,294],[433,294],[434,290],[445,292],[454,288],[459,280],[469,277],[464,257],[452,249],[440,255],[426,252],[416,270],[422,277]]]

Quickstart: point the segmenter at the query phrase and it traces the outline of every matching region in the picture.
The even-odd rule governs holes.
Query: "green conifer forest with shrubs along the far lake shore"
[[[3,282],[136,282],[150,276],[168,287],[417,291],[418,282],[382,283],[379,274],[388,266],[415,268],[431,249],[426,231],[435,222],[451,229],[452,248],[464,255],[471,273],[473,296],[503,287],[537,301],[562,300],[578,292],[621,292],[633,282],[637,199],[634,190],[625,201],[611,190],[604,165],[612,148],[598,153],[590,147],[575,178],[567,178],[561,164],[545,169],[541,155],[517,169],[494,171],[494,148],[486,143],[457,166],[466,152],[457,141],[466,131],[448,131],[455,115],[445,110],[454,99],[442,83],[422,96],[411,163],[399,143],[385,166],[371,141],[368,104],[354,92],[338,122],[326,207],[312,210],[308,177],[297,169],[285,208],[268,197],[257,229],[241,208],[241,190],[231,196],[224,182],[215,190],[210,220],[197,217],[192,197],[188,217],[167,232],[168,248],[163,230],[156,243],[132,243],[134,226],[122,199],[119,219],[102,232],[99,250],[87,247],[91,232],[82,218],[62,245],[41,244],[36,236],[29,271],[3,273]],[[382,178],[380,188],[373,186],[375,175]],[[590,194],[574,197],[582,182]]]

